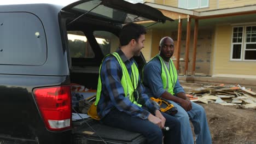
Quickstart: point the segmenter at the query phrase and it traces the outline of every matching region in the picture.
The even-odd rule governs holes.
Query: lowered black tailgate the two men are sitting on
[[[90,126],[96,131],[97,134],[95,134],[86,123],[83,123],[81,126],[74,126],[74,144],[104,143],[99,136],[101,136],[102,139],[107,143],[146,143],[144,136],[139,133],[108,127],[107,125],[103,125],[95,120],[91,121],[91,119],[82,121],[88,121]]]

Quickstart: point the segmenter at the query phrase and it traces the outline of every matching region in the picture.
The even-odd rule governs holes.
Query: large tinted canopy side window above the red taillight
[[[43,65],[47,58],[42,22],[31,13],[0,13],[0,64]]]

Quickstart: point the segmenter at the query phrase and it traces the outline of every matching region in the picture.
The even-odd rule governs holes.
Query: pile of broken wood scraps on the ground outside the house
[[[204,86],[193,89],[186,95],[191,101],[200,101],[205,104],[210,102],[225,106],[236,105],[256,109],[256,93],[240,85]]]

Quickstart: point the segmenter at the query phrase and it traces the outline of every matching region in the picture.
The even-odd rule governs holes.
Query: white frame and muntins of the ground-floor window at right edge
[[[248,26],[234,26],[232,27],[232,37],[231,37],[231,50],[230,50],[230,61],[245,61],[245,62],[256,62],[256,59],[245,59],[245,53],[246,51],[256,51],[256,49],[247,49],[246,50],[246,44],[256,44],[256,42],[246,42],[246,28],[247,27],[253,27],[256,25],[248,25]],[[243,34],[242,34],[242,43],[233,43],[233,33],[235,27],[243,27]],[[234,44],[241,44],[241,56],[240,59],[238,58],[232,58],[233,56],[233,46]]]

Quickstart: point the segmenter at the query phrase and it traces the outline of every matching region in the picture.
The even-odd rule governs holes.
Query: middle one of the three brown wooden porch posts
[[[189,62],[189,42],[190,42],[190,24],[191,19],[188,15],[188,23],[187,23],[187,38],[186,38],[186,51],[185,51],[185,75],[188,75],[188,62]]]

